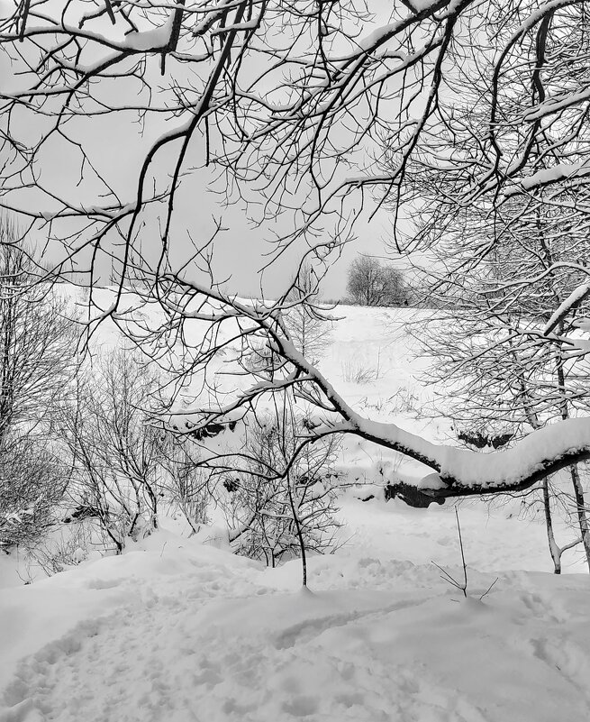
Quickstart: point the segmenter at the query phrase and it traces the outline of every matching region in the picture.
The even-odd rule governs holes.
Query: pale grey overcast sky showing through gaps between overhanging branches
[[[6,5],[7,0],[0,0]],[[377,22],[388,20],[391,6],[385,0],[370,0],[368,3],[371,12],[377,16]],[[0,5],[0,10],[2,5]],[[13,77],[11,77],[13,76]],[[0,59],[0,80],[3,90],[9,89],[14,81],[14,69]],[[123,93],[129,92],[123,88]],[[156,96],[156,101],[158,100]],[[23,117],[23,123],[30,122]],[[90,121],[86,129],[81,131],[80,140],[83,140],[98,169],[101,169],[113,183],[123,200],[131,200],[137,183],[137,172],[143,158],[145,149],[149,146],[162,129],[169,130],[168,121],[160,125],[148,127],[144,136],[139,135],[139,127],[132,123],[132,114],[120,114],[112,119],[101,116],[98,120]],[[34,129],[32,129],[33,132]],[[59,140],[59,139],[58,139]],[[198,154],[198,149],[195,149]],[[70,191],[77,188],[77,159],[74,149],[64,151],[63,145],[52,145],[43,151],[44,181],[58,189],[61,193],[67,188]],[[165,165],[166,159],[159,159]],[[243,295],[259,295],[261,277],[260,268],[266,264],[267,254],[271,250],[268,239],[275,234],[283,235],[293,230],[287,217],[280,217],[274,223],[266,226],[253,225],[250,222],[245,208],[240,205],[222,208],[219,196],[211,192],[211,176],[206,169],[198,169],[198,158],[189,158],[188,165],[196,169],[190,177],[183,180],[182,192],[178,196],[175,221],[177,232],[173,234],[173,242],[180,255],[189,247],[190,241],[187,231],[197,245],[206,242],[213,233],[213,218],[221,219],[222,225],[227,229],[220,234],[214,243],[214,268],[218,271],[219,279],[231,277],[228,288]],[[78,192],[78,189],[76,190]],[[83,193],[80,190],[80,193]],[[92,181],[86,182],[86,197],[81,196],[84,203],[96,203],[93,198],[95,187]],[[25,201],[31,203],[31,199]],[[334,267],[330,270],[323,282],[322,293],[324,297],[340,298],[346,290],[346,271],[350,261],[357,253],[386,255],[386,242],[391,236],[391,218],[385,210],[381,210],[368,223],[368,214],[361,217],[355,227],[358,240],[349,244],[342,253]],[[329,230],[326,233],[330,236]],[[145,238],[144,238],[145,236]],[[156,250],[158,246],[159,228],[155,221],[150,222],[142,232],[142,250],[150,257],[150,248]],[[41,242],[42,236],[39,237]],[[326,240],[330,240],[329,237]],[[286,253],[285,257],[274,263],[266,270],[263,276],[264,293],[268,297],[277,295],[288,279],[295,273],[302,248],[299,247]],[[108,273],[109,269],[105,269]]]

